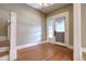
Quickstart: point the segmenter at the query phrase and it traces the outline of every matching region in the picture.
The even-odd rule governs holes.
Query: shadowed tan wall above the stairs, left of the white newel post
[[[8,36],[9,13],[0,9],[0,36]]]

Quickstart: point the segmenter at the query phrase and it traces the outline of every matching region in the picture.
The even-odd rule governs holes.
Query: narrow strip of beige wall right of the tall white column
[[[82,3],[82,47],[86,48],[86,3]]]

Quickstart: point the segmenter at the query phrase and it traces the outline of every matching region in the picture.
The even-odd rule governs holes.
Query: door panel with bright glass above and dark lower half
[[[65,38],[65,17],[58,17],[56,18],[54,24],[54,40],[59,44],[64,44],[64,38]]]

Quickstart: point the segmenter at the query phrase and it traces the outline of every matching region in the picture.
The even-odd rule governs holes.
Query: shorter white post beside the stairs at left
[[[10,60],[16,60],[16,13],[11,12]]]

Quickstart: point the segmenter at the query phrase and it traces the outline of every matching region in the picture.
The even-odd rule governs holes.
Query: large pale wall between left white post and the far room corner
[[[39,42],[45,39],[46,15],[26,4],[0,4],[0,10],[17,14],[17,46]]]

